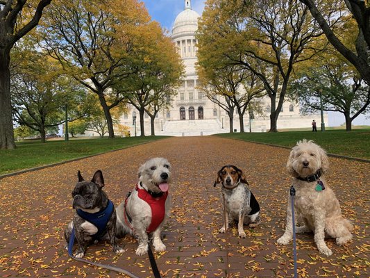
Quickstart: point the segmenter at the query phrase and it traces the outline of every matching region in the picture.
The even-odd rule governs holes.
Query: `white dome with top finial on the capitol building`
[[[185,3],[185,10],[179,13],[175,19],[172,37],[185,33],[194,34],[198,30],[199,14],[190,8],[190,1],[187,2],[189,2],[189,5],[186,6],[187,3]]]

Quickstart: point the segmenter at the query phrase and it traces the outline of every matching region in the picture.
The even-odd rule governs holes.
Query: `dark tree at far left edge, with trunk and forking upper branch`
[[[37,26],[42,11],[50,2],[0,1],[0,149],[15,148],[10,101],[10,50]]]

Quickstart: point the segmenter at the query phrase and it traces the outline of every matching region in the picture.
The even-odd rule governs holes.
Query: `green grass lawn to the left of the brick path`
[[[17,142],[17,149],[0,150],[0,174],[101,154],[162,138],[167,136]]]

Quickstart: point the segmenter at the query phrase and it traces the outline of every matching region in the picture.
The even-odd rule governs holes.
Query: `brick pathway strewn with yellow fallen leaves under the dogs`
[[[169,138],[81,161],[0,180],[0,277],[123,277],[72,261],[62,236],[72,219],[76,172],[91,179],[102,170],[106,193],[119,204],[137,181],[146,159],[164,156],[173,167],[171,219],[163,236],[167,251],[156,254],[163,277],[292,277],[292,245],[281,247],[289,177],[289,149],[217,137]],[[300,277],[369,277],[370,163],[330,158],[330,186],[342,212],[355,224],[353,243],[339,247],[327,240],[330,257],[317,252],[313,236],[298,235]],[[262,224],[218,234],[222,223],[220,188],[213,188],[224,164],[242,168],[262,208]],[[92,245],[86,258],[117,265],[138,277],[151,277],[147,256],[136,256],[136,243],[119,240],[117,256],[108,243]]]

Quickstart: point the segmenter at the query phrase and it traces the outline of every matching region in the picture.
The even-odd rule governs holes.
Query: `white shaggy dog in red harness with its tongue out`
[[[117,207],[117,236],[135,236],[139,243],[136,254],[141,256],[148,252],[149,234],[153,234],[155,251],[166,250],[160,233],[169,217],[171,165],[166,158],[151,158],[138,174],[139,183]]]

